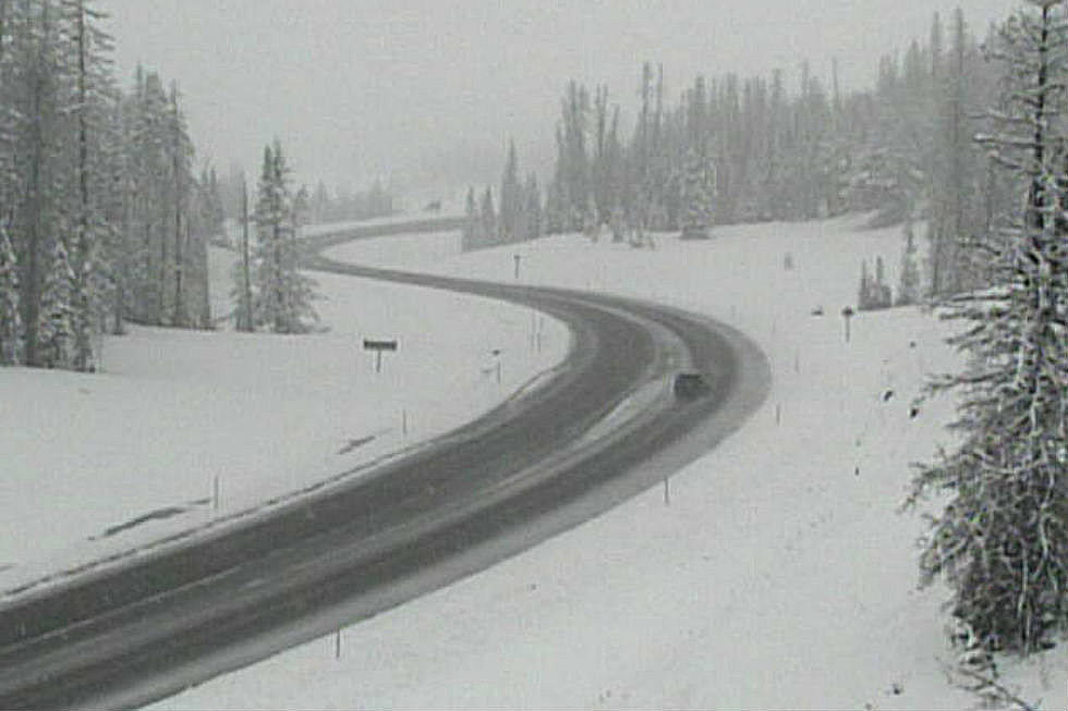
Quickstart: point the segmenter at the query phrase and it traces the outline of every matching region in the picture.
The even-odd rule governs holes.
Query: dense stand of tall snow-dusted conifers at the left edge
[[[0,363],[93,370],[128,319],[210,324],[205,209],[173,84],[123,93],[92,0],[0,0]]]

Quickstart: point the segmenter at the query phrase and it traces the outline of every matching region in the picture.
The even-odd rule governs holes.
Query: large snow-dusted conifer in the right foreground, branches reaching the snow
[[[983,650],[1024,653],[1068,626],[1068,22],[1064,4],[1035,3],[997,35],[1004,108],[984,138],[1025,192],[1006,237],[985,245],[996,289],[958,297],[968,329],[950,343],[964,372],[932,385],[962,393],[957,451],[921,467],[909,502],[950,501],[932,519],[920,561],[944,576],[952,613]]]

